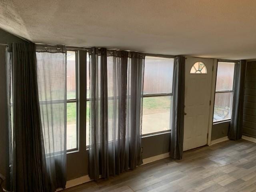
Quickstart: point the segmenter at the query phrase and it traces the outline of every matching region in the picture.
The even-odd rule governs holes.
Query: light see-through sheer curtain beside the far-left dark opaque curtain
[[[66,47],[36,46],[37,82],[51,191],[66,186]]]

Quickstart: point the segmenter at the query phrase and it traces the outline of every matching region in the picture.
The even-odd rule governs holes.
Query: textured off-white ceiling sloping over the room
[[[0,0],[0,28],[35,43],[256,58],[256,0]]]

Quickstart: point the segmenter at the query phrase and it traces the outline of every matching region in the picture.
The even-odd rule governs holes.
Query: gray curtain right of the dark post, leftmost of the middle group
[[[97,180],[108,169],[108,90],[106,49],[90,50],[89,176]]]

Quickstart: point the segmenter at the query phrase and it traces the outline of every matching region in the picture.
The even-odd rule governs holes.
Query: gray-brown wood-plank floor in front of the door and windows
[[[256,143],[226,141],[63,192],[256,192]]]

